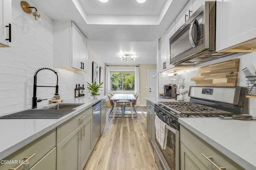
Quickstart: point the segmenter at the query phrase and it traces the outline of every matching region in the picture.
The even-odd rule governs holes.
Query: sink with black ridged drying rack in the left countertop
[[[75,110],[82,104],[56,104],[45,106],[40,109],[28,109],[9,115],[1,116],[0,119],[58,119]]]

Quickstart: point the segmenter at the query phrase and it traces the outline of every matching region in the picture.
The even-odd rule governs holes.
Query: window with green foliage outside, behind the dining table
[[[134,71],[131,72],[110,72],[111,91],[134,91]]]

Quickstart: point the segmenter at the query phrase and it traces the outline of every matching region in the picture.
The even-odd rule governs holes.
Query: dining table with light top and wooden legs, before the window
[[[115,113],[116,113],[116,103],[118,102],[130,102],[130,108],[131,108],[131,114],[133,119],[133,113],[132,113],[132,101],[136,100],[135,96],[133,94],[114,94],[110,100],[114,100],[114,113],[113,113],[113,120],[115,119]]]

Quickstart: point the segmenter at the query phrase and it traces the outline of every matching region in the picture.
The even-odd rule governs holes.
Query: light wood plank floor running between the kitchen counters
[[[108,118],[84,170],[157,170],[146,132],[146,107],[135,107],[138,118]]]

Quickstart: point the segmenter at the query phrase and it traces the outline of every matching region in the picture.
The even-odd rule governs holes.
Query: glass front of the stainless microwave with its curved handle
[[[190,22],[182,25],[170,38],[170,64],[178,63],[206,49],[203,17],[202,12],[194,20],[188,20]]]

